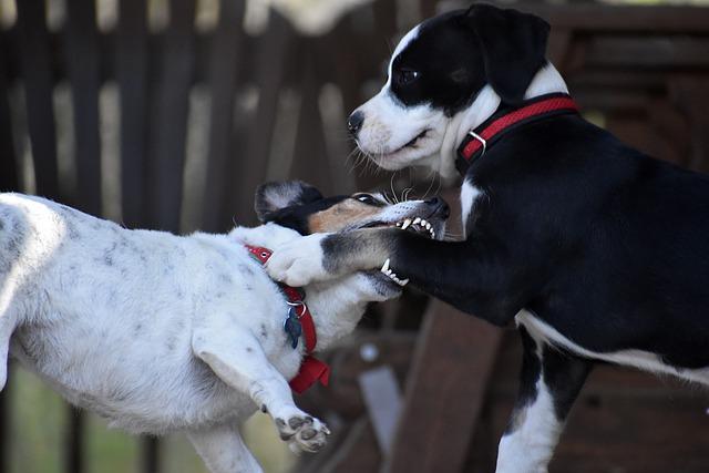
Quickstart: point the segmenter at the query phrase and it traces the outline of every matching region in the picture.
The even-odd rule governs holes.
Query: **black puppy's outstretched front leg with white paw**
[[[379,269],[387,260],[400,280],[499,326],[524,307],[527,295],[520,281],[535,279],[534,265],[514,264],[499,245],[431,240],[395,228],[298,238],[277,247],[266,268],[274,279],[301,287]]]

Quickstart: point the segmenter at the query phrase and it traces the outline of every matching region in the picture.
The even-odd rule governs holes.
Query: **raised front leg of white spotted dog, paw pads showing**
[[[226,335],[232,332],[232,335]],[[251,398],[274,420],[280,438],[292,451],[317,452],[330,434],[318,419],[298,409],[288,382],[247,330],[195,331],[193,351],[229,387]]]

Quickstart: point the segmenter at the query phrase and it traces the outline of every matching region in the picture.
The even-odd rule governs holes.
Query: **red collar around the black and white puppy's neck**
[[[578,113],[574,100],[564,93],[541,95],[525,101],[522,107],[496,112],[475,130],[465,135],[458,148],[455,166],[465,175],[475,160],[490,151],[505,133],[525,123],[566,113]]]

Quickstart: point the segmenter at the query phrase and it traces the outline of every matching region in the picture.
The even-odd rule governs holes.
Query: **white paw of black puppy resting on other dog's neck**
[[[276,247],[266,270],[277,281],[302,287],[328,278],[323,268],[322,239],[327,235],[309,235]]]

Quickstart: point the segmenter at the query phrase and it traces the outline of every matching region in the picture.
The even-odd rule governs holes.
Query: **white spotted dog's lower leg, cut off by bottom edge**
[[[187,432],[187,438],[212,473],[260,473],[263,471],[244,444],[235,424],[193,430]]]

